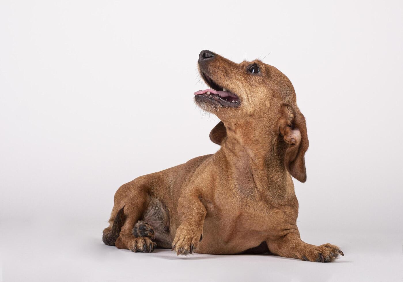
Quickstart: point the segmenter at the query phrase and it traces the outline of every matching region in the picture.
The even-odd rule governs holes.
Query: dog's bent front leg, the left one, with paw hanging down
[[[181,223],[172,242],[172,251],[175,250],[177,255],[186,255],[197,249],[203,237],[205,216],[206,208],[200,202],[198,192],[188,189],[179,198],[178,217]]]

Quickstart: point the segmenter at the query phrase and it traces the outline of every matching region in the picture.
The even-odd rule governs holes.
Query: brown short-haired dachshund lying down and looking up
[[[208,50],[198,64],[211,89],[197,91],[195,102],[221,120],[210,132],[220,150],[122,185],[104,243],[316,262],[343,255],[335,245],[300,239],[291,176],[306,181],[308,138],[290,80],[259,60],[236,64]]]

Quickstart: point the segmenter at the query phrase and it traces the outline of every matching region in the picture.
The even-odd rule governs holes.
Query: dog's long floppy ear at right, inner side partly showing
[[[280,134],[287,143],[285,167],[295,179],[305,182],[305,152],[309,141],[305,117],[298,108],[294,111],[288,107],[284,109],[284,116],[280,119]]]

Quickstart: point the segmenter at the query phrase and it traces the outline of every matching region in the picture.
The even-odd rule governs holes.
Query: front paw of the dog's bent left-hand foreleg
[[[172,242],[172,251],[177,255],[187,255],[197,249],[199,242],[202,241],[202,228],[181,225],[177,229],[175,239]]]

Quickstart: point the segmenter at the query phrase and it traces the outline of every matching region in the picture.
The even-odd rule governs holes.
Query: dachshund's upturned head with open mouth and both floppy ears
[[[208,50],[200,53],[198,64],[210,89],[195,92],[195,101],[222,121],[210,139],[221,144],[228,129],[246,147],[258,143],[269,151],[274,146],[289,173],[305,182],[305,118],[287,76],[260,60],[237,64]]]

